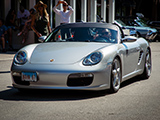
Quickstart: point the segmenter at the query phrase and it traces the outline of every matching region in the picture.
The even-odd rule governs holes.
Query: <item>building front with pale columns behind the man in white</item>
[[[39,0],[0,0],[0,17],[5,18],[8,11],[13,8],[19,10],[20,5],[26,9],[33,8]],[[42,0],[48,5],[51,25],[54,28],[59,25],[59,17],[55,15],[52,8],[58,0]],[[66,0],[75,10],[71,21],[97,22],[97,15],[106,22],[113,22],[115,17],[115,0]],[[59,7],[62,9],[62,6]]]

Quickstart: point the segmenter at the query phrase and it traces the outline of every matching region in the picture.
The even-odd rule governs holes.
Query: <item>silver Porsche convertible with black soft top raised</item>
[[[19,90],[106,90],[151,75],[151,48],[144,38],[124,36],[109,23],[70,23],[56,27],[41,43],[20,49],[11,66]]]

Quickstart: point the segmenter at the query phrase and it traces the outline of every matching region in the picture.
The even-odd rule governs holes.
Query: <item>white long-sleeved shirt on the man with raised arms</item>
[[[73,8],[71,6],[68,6],[69,10],[66,10],[65,12],[58,10],[56,6],[54,6],[53,10],[54,12],[60,16],[60,23],[70,23],[70,17],[73,13]]]

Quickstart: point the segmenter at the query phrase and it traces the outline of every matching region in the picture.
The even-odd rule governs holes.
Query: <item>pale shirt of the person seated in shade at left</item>
[[[24,10],[24,12],[22,13],[21,11],[18,11],[18,13],[17,13],[17,18],[18,19],[22,19],[22,21],[21,21],[21,24],[22,25],[24,25],[25,24],[25,22],[27,21],[27,19],[23,19],[23,17],[29,17],[30,16],[30,13],[29,13],[29,11],[28,10]]]

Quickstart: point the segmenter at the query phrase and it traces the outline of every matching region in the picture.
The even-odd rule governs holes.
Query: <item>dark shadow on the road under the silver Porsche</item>
[[[139,78],[129,79],[121,84],[123,89],[126,86],[135,82],[140,82]],[[106,95],[112,95],[104,91],[78,91],[78,90],[26,90],[19,92],[12,86],[9,89],[0,91],[0,99],[11,101],[71,101],[71,100],[85,100]],[[115,93],[118,94],[118,93]]]

